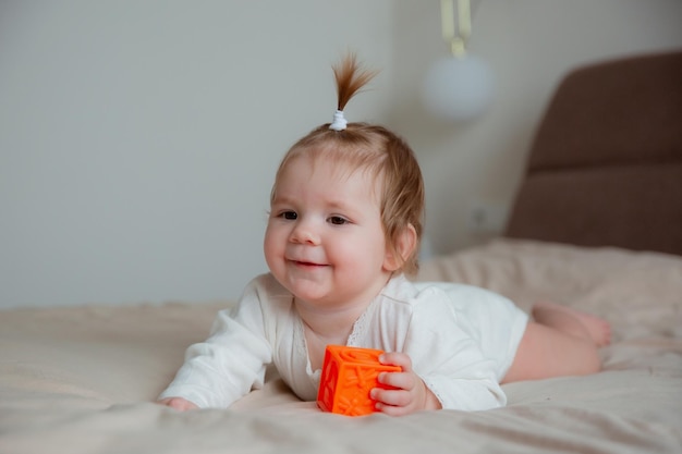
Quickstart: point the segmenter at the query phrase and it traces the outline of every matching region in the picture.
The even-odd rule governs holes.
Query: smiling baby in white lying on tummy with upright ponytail
[[[533,320],[510,300],[467,285],[411,283],[417,269],[424,185],[412,149],[385,127],[348,123],[346,102],[374,76],[354,56],[334,66],[331,124],[284,156],[270,197],[264,251],[269,273],[192,345],[159,397],[176,409],[227,407],[264,384],[273,364],[315,401],[328,344],[378,348],[374,389],[388,415],[506,404],[502,383],[600,370],[606,321],[559,305]]]

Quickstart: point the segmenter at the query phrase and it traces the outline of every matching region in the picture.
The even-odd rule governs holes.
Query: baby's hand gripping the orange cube
[[[375,388],[369,396],[377,401],[376,408],[390,416],[402,416],[424,409],[440,409],[436,395],[424,381],[412,370],[412,360],[404,353],[385,353],[379,357],[385,365],[402,367],[401,372],[381,372],[378,380],[381,384],[397,388],[385,390]]]

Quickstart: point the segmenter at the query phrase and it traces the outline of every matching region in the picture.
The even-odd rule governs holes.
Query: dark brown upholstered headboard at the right
[[[682,255],[682,51],[563,78],[506,236]]]

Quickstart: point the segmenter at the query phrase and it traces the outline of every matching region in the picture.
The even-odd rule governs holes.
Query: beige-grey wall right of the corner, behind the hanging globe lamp
[[[471,53],[487,60],[497,96],[487,114],[443,125],[424,111],[419,84],[448,56],[439,2],[400,0],[391,125],[419,155],[427,186],[426,231],[437,253],[470,246],[470,203],[509,206],[536,125],[560,77],[601,59],[682,49],[680,0],[474,0]],[[682,82],[681,82],[682,83]]]

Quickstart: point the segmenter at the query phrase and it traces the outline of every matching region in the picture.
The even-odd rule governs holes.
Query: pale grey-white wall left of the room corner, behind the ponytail
[[[346,49],[388,69],[349,118],[385,116],[390,11],[0,2],[0,307],[239,296],[266,270],[275,169],[331,120]]]

